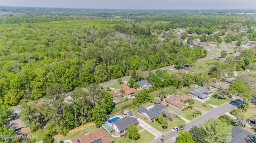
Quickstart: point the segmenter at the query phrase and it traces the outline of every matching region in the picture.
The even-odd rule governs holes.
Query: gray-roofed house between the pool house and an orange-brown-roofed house
[[[145,115],[148,119],[153,120],[155,119],[158,115],[162,114],[162,110],[166,108],[163,105],[155,104],[151,108],[145,108],[145,107],[140,107],[138,109],[138,112]]]

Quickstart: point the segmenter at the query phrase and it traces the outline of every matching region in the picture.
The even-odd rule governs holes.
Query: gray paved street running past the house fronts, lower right
[[[193,125],[201,124],[211,118],[217,118],[220,115],[225,114],[226,112],[228,112],[230,110],[233,110],[234,108],[236,108],[236,106],[231,105],[230,103],[225,103],[223,105],[220,105],[220,106],[214,108],[213,110],[197,117],[195,120],[187,123],[185,125],[185,130],[188,131],[191,127],[193,127]],[[173,132],[171,130],[164,134],[164,141],[171,140],[171,143],[173,143],[173,142],[175,142],[175,137],[177,137],[177,136],[178,136],[178,133],[176,131]],[[162,137],[158,137],[158,138],[154,139],[153,141],[151,141],[151,143],[162,143]]]

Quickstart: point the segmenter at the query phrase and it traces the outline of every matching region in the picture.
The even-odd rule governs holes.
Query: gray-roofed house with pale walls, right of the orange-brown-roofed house
[[[209,95],[212,93],[211,90],[206,87],[197,87],[193,90],[189,90],[188,94],[192,97],[197,97],[202,100],[210,99]]]

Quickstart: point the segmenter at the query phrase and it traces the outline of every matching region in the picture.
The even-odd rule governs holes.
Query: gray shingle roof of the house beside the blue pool
[[[119,131],[123,131],[127,129],[130,124],[139,124],[139,121],[135,117],[123,117],[113,124],[116,125]]]

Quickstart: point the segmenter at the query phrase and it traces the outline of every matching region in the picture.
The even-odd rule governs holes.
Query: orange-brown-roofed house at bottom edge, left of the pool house
[[[88,134],[78,134],[70,138],[71,143],[111,143],[114,142],[102,128]]]

